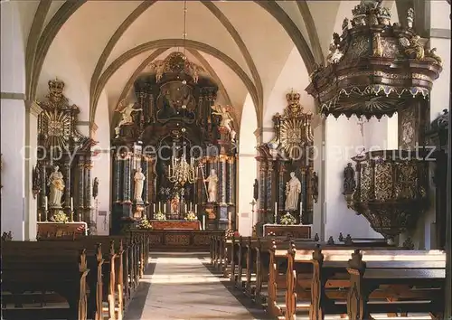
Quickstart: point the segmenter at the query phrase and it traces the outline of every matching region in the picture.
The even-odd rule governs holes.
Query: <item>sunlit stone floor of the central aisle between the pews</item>
[[[154,252],[151,257],[125,320],[266,318],[263,310],[243,306],[221,283],[229,280],[205,267],[210,262],[205,253]]]

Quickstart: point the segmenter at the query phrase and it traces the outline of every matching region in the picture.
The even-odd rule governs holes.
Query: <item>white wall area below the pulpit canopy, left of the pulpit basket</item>
[[[352,237],[381,238],[369,221],[347,208],[343,173],[353,155],[363,147],[357,118],[327,118],[325,124],[325,238],[337,239],[339,232]]]

